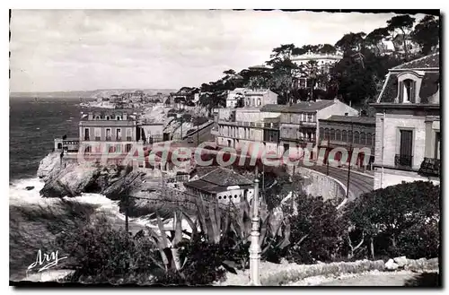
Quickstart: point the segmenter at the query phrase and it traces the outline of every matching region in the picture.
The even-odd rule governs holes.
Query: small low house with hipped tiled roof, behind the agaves
[[[250,201],[254,194],[251,179],[223,167],[198,168],[190,175],[190,181],[184,183],[184,187],[191,195],[198,195],[206,202],[216,199],[219,204],[238,204],[244,198]]]

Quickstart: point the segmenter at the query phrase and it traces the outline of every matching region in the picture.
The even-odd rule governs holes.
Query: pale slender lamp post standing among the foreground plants
[[[251,219],[251,246],[250,246],[250,285],[260,286],[259,280],[259,179],[256,166],[256,178],[254,179],[254,196],[252,198],[252,219]]]

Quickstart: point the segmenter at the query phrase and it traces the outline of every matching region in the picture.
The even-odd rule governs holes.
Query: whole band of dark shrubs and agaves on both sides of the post
[[[439,250],[440,187],[404,183],[362,195],[343,210],[321,197],[260,208],[262,260],[298,264],[352,261],[384,256],[436,257]],[[86,221],[57,236],[75,273],[72,282],[211,284],[225,273],[249,267],[251,206],[205,204],[191,217],[174,213],[173,227],[131,236],[105,219]],[[181,229],[187,221],[191,231]]]

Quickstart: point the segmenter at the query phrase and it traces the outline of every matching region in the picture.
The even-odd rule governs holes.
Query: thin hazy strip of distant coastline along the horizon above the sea
[[[109,97],[112,94],[123,92],[144,91],[145,94],[154,95],[157,92],[169,94],[176,92],[176,89],[98,89],[94,91],[51,91],[51,92],[10,92],[10,97],[37,97],[43,99],[96,99],[100,97]]]

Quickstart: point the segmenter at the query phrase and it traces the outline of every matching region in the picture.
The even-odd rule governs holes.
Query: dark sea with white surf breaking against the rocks
[[[40,161],[52,152],[55,137],[78,136],[81,112],[88,109],[79,107],[76,99],[10,98],[9,102],[10,280],[22,281],[33,271],[28,267],[36,261],[40,249],[58,250],[48,248],[57,234],[52,223],[71,216],[60,199],[40,195],[44,187],[44,182],[37,177]],[[106,213],[124,225],[125,216],[119,213],[119,204],[104,195],[83,194],[71,198],[70,202]],[[145,219],[133,222],[144,222],[144,225]]]

